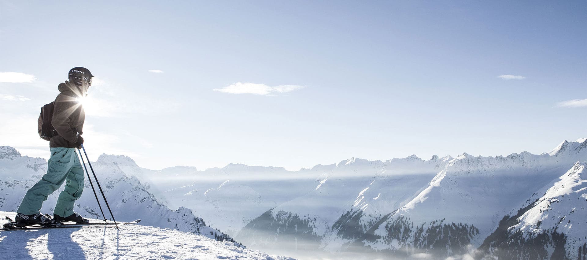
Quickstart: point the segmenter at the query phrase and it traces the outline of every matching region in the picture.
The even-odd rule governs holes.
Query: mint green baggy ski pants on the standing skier
[[[66,181],[65,190],[59,194],[53,214],[69,217],[73,214],[73,203],[82,195],[83,168],[76,154],[76,148],[51,148],[47,173],[26,192],[16,212],[32,215],[41,212],[43,201],[58,190]]]

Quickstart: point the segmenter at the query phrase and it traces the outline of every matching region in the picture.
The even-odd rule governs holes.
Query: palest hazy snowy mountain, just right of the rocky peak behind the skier
[[[154,194],[166,198],[170,208],[190,208],[231,235],[269,208],[308,193],[315,181],[284,168],[244,164],[205,171],[171,167],[147,178],[158,184],[151,185],[159,190]]]

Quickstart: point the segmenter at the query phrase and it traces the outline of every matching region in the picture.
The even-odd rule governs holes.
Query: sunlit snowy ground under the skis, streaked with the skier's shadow
[[[14,212],[0,216],[14,219]],[[3,220],[0,224],[4,224]],[[294,260],[236,247],[203,235],[143,225],[0,232],[0,252],[12,259],[254,259]]]

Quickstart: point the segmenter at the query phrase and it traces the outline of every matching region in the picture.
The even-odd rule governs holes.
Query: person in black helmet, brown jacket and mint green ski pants
[[[60,83],[59,94],[53,104],[51,124],[55,136],[50,137],[51,157],[47,173],[26,192],[16,210],[16,223],[21,225],[60,225],[61,222],[89,222],[76,212],[73,203],[82,195],[84,176],[82,164],[76,156],[76,148],[82,148],[82,128],[85,113],[80,102],[92,85],[92,73],[85,67],[69,70],[69,81]],[[53,211],[53,219],[41,214],[43,201],[66,181],[65,190],[59,194]]]

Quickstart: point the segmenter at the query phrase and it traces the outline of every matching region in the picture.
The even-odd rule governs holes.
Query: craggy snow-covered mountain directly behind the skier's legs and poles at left
[[[234,241],[218,229],[208,227],[204,220],[195,217],[190,209],[180,207],[173,211],[158,201],[134,175],[141,175],[142,171],[131,158],[102,154],[92,166],[117,221],[141,219],[142,225],[172,228],[203,234],[218,240]],[[44,159],[21,156],[15,148],[0,146],[0,210],[16,211],[26,191],[39,181],[46,171],[47,162]],[[96,184],[94,185],[101,199],[99,190]],[[43,203],[42,212],[52,214],[57,197],[64,188],[65,185],[48,197]],[[103,201],[102,209],[106,218],[111,219]],[[87,177],[84,192],[76,201],[74,211],[84,217],[102,218]]]

